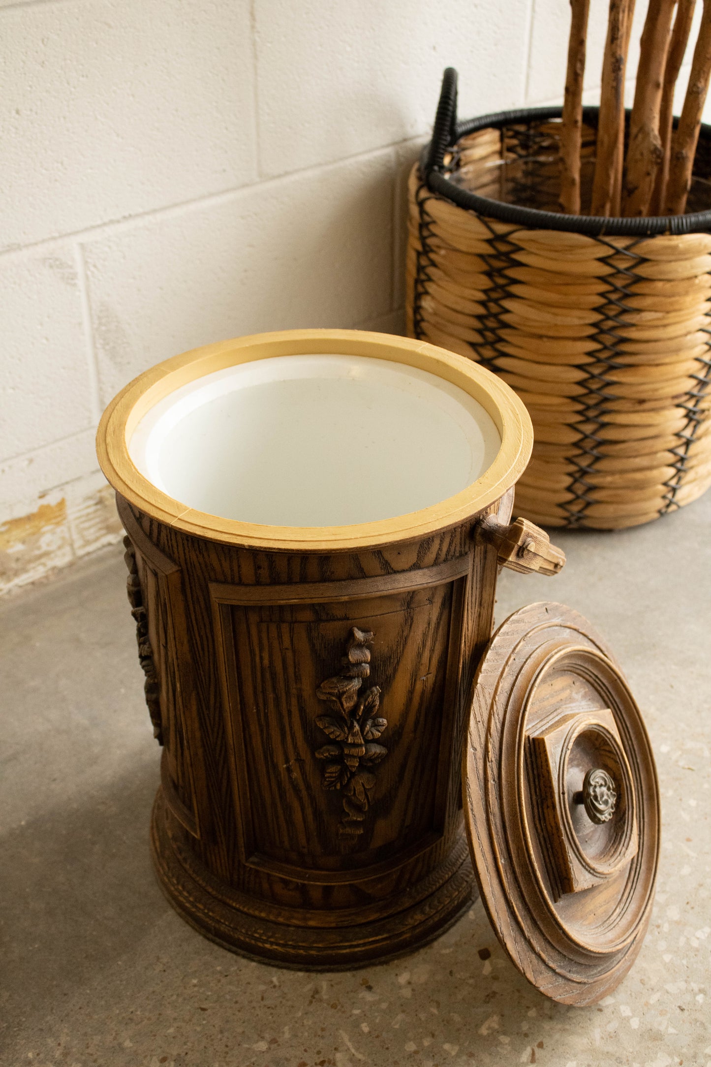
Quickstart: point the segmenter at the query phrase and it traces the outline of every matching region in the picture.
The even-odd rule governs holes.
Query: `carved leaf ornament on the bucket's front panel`
[[[387,719],[377,716],[379,687],[373,685],[359,695],[363,680],[370,675],[367,646],[373,636],[353,626],[340,674],[327,678],[316,691],[330,708],[329,715],[320,715],[316,721],[332,744],[317,749],[314,755],[324,762],[323,787],[343,793],[338,832],[344,837],[362,833],[375,785],[375,775],[370,768],[388,754],[384,745],[376,744],[388,724]]]

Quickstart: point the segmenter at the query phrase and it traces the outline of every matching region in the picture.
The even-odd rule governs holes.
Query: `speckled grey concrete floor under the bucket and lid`
[[[658,759],[652,924],[615,994],[585,1009],[526,983],[481,904],[415,955],[352,973],[277,970],[204,940],[150,869],[159,750],[118,546],[7,600],[2,1067],[709,1067],[710,530],[711,494],[635,530],[559,534],[559,577],[501,579],[499,620],[550,599],[607,635]]]

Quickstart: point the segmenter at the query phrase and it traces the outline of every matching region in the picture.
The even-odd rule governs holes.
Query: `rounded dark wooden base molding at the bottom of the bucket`
[[[296,970],[337,971],[385,962],[443,934],[478,893],[464,834],[442,862],[406,892],[337,912],[319,914],[264,906],[222,885],[181,845],[184,833],[171,815],[159,789],[151,818],[150,844],[158,881],[178,914],[223,949],[261,962]],[[366,896],[366,893],[363,893]],[[405,905],[403,907],[403,905]]]

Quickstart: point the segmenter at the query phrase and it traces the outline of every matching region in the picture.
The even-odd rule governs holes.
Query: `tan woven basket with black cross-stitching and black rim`
[[[711,127],[690,212],[566,216],[560,108],[456,123],[447,70],[432,143],[409,182],[411,337],[483,363],[535,430],[519,513],[549,526],[636,526],[711,484]],[[583,112],[581,194],[597,109]]]

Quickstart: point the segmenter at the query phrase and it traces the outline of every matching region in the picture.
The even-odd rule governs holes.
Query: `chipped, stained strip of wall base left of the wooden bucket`
[[[68,482],[27,514],[0,523],[0,595],[122,537],[113,491],[97,480]]]

